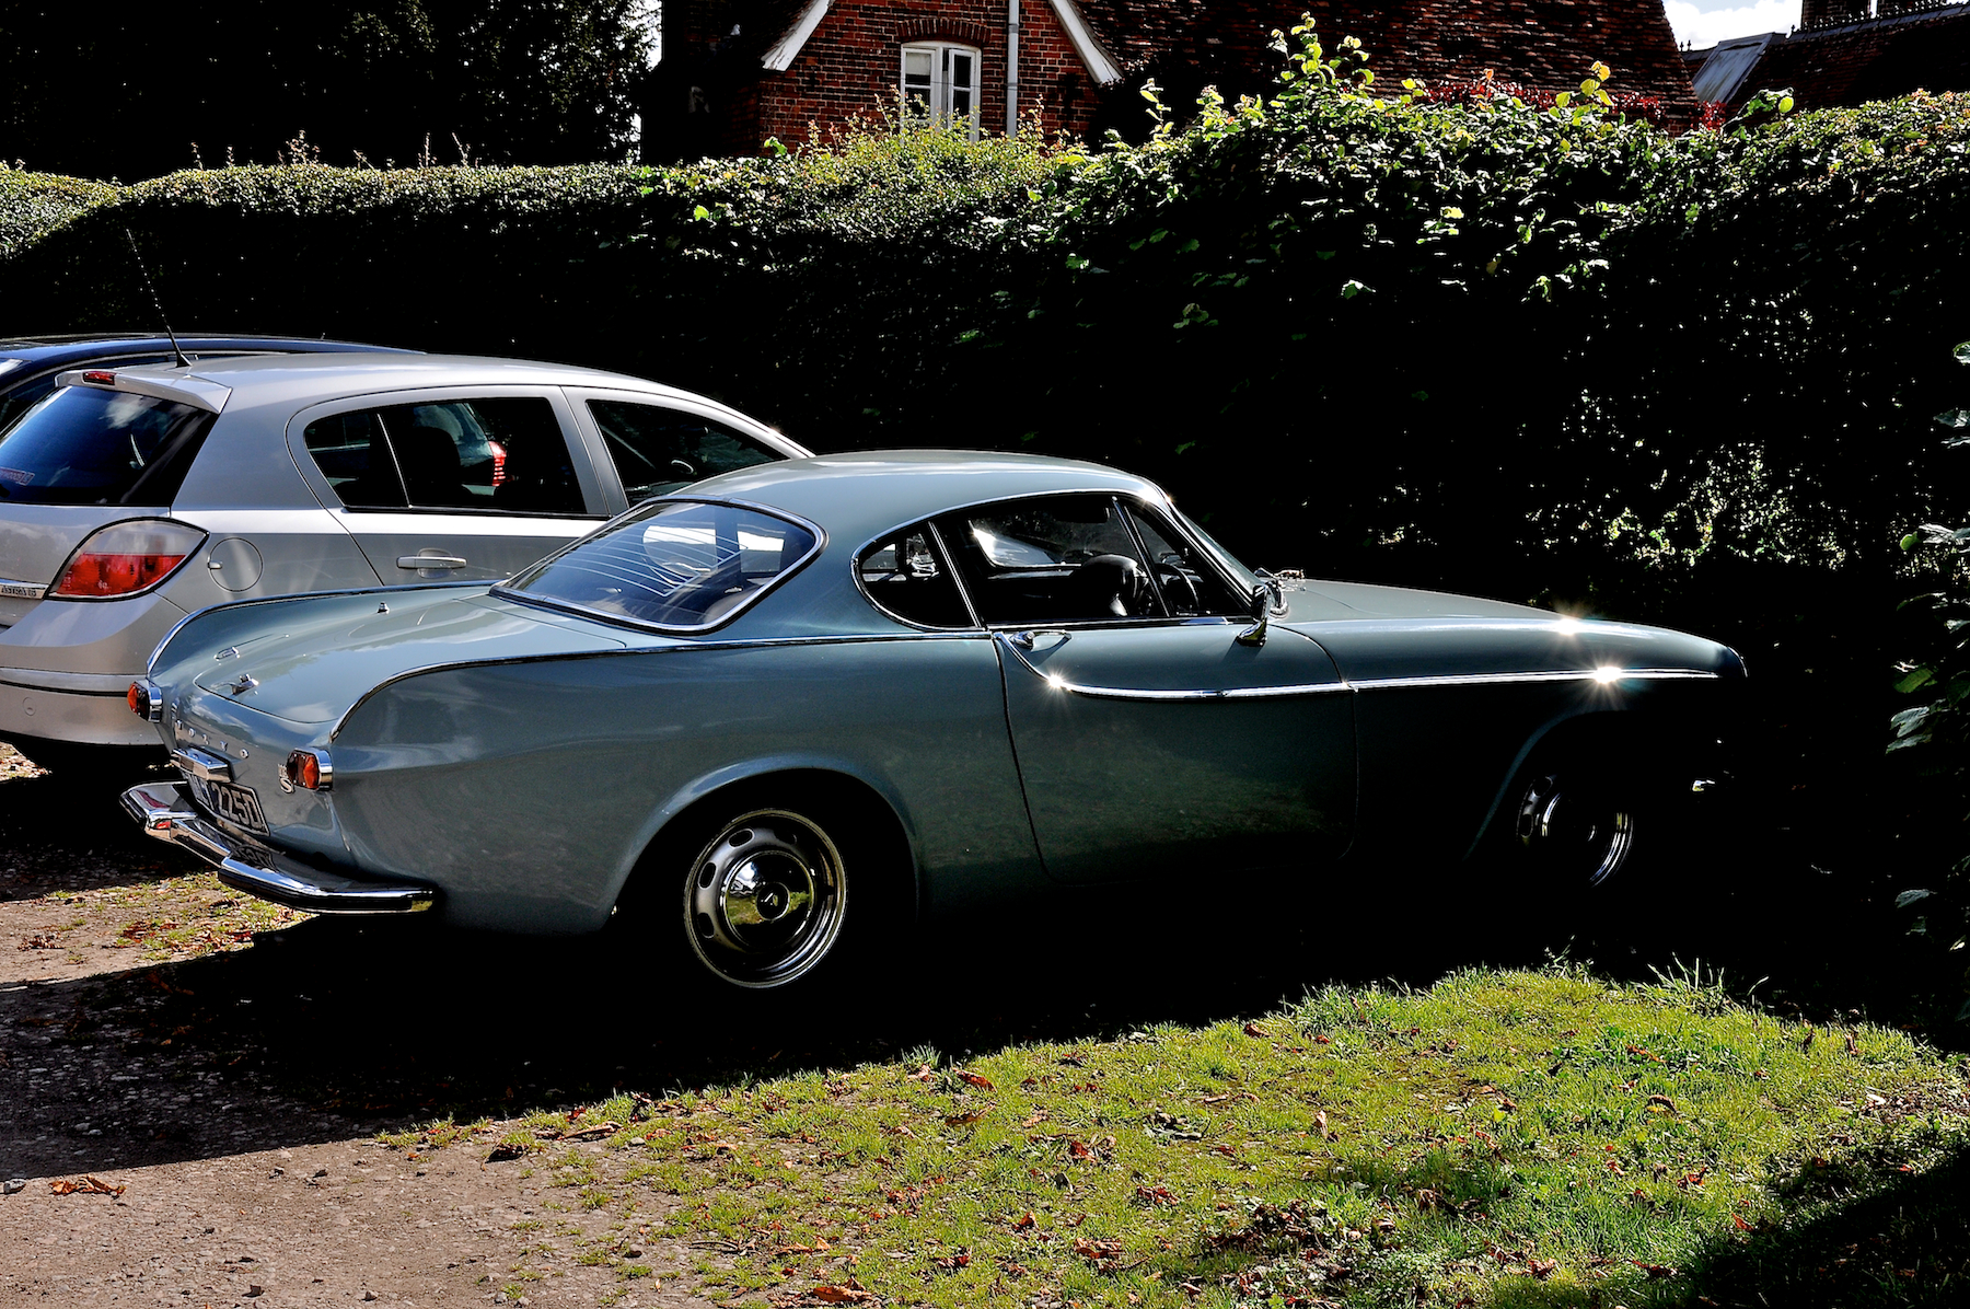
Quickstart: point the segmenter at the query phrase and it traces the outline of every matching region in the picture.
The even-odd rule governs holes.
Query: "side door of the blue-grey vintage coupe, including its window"
[[[1168,518],[1109,495],[938,520],[995,633],[1046,871],[1070,883],[1304,871],[1353,828],[1347,684]]]

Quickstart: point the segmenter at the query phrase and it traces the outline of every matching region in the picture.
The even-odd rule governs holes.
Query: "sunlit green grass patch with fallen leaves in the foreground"
[[[500,1147],[621,1212],[581,1262],[624,1291],[642,1234],[747,1303],[1641,1307],[1970,1303],[1966,1145],[1962,1063],[1897,1031],[1552,968],[621,1096]]]

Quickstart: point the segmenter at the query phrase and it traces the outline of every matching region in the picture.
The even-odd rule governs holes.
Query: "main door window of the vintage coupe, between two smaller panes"
[[[1149,568],[1107,495],[989,505],[938,520],[987,625],[1162,617]]]

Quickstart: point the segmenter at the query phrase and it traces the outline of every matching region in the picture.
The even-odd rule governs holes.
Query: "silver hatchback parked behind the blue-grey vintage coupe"
[[[810,451],[723,404],[516,359],[87,369],[0,432],[0,739],[158,755],[124,696],[230,599],[498,580],[632,503]]]

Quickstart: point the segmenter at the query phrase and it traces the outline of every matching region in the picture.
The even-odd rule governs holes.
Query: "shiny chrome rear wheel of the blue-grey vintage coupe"
[[[820,966],[845,909],[841,852],[818,824],[778,808],[727,822],[684,883],[684,929],[697,958],[755,990]]]

